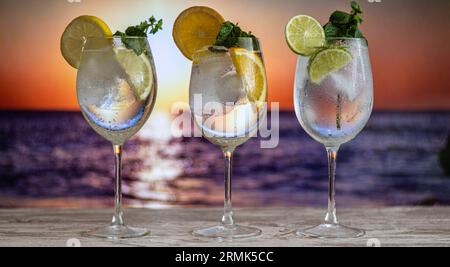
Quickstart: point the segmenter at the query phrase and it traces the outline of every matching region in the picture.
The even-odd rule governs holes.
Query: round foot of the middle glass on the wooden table
[[[208,228],[195,229],[192,231],[194,236],[216,238],[216,239],[242,239],[261,235],[262,231],[258,228],[242,225],[217,225]]]

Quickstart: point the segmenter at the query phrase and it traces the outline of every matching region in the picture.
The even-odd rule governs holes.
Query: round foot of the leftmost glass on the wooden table
[[[108,239],[134,238],[150,234],[150,231],[145,228],[136,228],[126,225],[111,225],[89,232],[83,233],[88,237],[99,237]]]

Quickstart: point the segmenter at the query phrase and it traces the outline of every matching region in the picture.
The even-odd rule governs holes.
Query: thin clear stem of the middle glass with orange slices
[[[231,165],[233,161],[233,152],[234,148],[223,148],[223,155],[225,158],[225,201],[222,224],[226,226],[234,225],[233,210],[231,205]]]

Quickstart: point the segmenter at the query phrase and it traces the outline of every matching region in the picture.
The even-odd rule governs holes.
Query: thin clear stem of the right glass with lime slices
[[[336,200],[335,200],[335,180],[336,180],[336,158],[339,146],[327,147],[328,156],[328,212],[325,216],[325,223],[337,224]]]

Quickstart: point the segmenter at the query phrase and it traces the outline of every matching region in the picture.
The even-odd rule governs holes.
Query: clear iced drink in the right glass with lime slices
[[[294,103],[303,129],[325,146],[353,139],[366,125],[373,105],[373,81],[367,45],[347,41],[353,55],[343,69],[319,85],[308,78],[309,57],[298,57]]]

